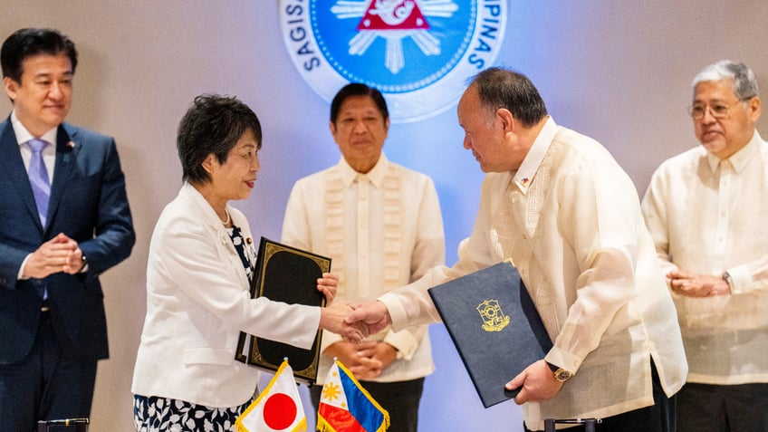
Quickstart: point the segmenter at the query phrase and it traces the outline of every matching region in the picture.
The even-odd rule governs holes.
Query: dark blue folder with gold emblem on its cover
[[[475,390],[488,408],[518,390],[504,384],[552,349],[512,262],[494,264],[427,290]]]

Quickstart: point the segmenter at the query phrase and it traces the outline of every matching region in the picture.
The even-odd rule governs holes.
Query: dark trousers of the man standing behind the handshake
[[[416,432],[418,430],[418,402],[424,390],[424,379],[396,382],[360,381],[371,398],[389,412],[387,432]],[[310,396],[315,412],[320,407],[322,386],[312,386]]]

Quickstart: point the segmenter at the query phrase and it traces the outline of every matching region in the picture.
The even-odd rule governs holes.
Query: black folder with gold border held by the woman
[[[317,279],[331,271],[331,258],[282,245],[262,237],[256,258],[251,297],[266,297],[277,302],[325,306],[325,296],[317,291]],[[280,325],[275,322],[275,325]],[[317,380],[321,331],[312,349],[303,350],[282,342],[240,333],[235,360],[266,370],[277,371],[283,358],[293,369],[293,378],[307,384]]]

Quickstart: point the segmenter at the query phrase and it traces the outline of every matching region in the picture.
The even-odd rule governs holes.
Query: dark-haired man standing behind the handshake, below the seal
[[[283,243],[331,257],[337,299],[370,301],[445,261],[443,220],[432,180],[382,153],[389,110],[381,93],[351,83],[331,102],[341,160],[296,182]],[[427,325],[385,329],[355,345],[325,331],[318,378],[341,360],[389,410],[390,432],[415,432],[424,377],[434,370]],[[319,382],[322,384],[322,382]],[[311,389],[318,408],[322,386]]]

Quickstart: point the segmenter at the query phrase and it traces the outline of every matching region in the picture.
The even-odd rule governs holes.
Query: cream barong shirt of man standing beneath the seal
[[[445,262],[443,219],[431,178],[390,162],[382,153],[368,174],[341,158],[331,168],[293,186],[283,221],[283,243],[331,257],[331,272],[341,278],[337,301],[371,301],[417,280]],[[435,369],[427,325],[382,331],[398,359],[376,379],[418,379]],[[322,350],[341,337],[322,335]],[[323,355],[318,381],[332,359]]]

